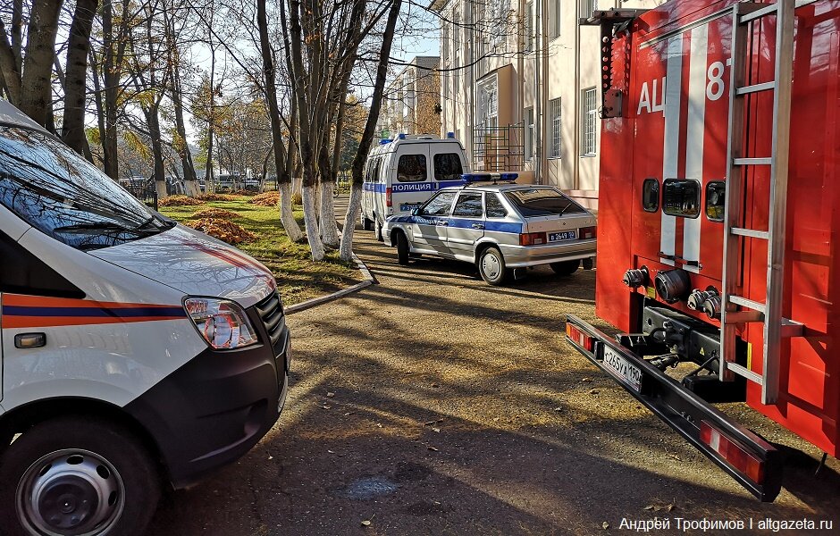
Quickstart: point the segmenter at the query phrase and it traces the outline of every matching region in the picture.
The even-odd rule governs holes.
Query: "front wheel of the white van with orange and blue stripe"
[[[75,476],[68,476],[62,466],[74,467]],[[78,476],[79,471],[88,480]],[[20,498],[36,486],[46,489],[42,491],[46,501],[49,487],[41,485],[49,479],[63,480],[63,497],[69,494],[75,498],[77,511],[84,510],[81,500],[86,498],[95,499],[97,504],[113,500],[115,506],[103,507],[99,514],[97,509],[88,511],[88,519],[101,517],[90,527],[62,529],[49,525],[47,515],[67,522],[71,514],[55,512],[48,506],[32,506],[29,513],[17,507]],[[98,497],[89,480],[96,480],[100,490],[110,489],[108,498]],[[89,416],[56,417],[24,432],[0,457],[0,482],[4,482],[0,486],[0,527],[8,536],[46,532],[38,529],[38,523],[49,532],[139,536],[146,532],[161,495],[157,467],[143,443],[122,426]]]

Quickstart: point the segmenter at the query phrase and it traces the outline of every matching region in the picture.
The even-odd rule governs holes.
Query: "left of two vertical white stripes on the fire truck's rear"
[[[676,179],[679,162],[680,88],[683,85],[683,36],[668,39],[666,52],[668,67],[665,82],[665,147],[662,157],[662,180]],[[664,189],[664,188],[663,188]],[[676,253],[676,217],[662,211],[659,250],[665,255]],[[659,259],[674,265],[669,259]]]

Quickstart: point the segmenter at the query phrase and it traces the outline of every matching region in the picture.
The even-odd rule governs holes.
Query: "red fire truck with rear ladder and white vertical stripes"
[[[567,339],[771,501],[780,451],[712,403],[837,456],[840,1],[581,22],[603,56],[595,311],[618,333],[569,315]]]

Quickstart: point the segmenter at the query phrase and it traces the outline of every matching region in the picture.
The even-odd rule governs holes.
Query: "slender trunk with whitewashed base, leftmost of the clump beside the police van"
[[[272,57],[271,43],[268,39],[268,20],[265,13],[265,0],[257,0],[256,2],[256,23],[259,27],[260,51],[263,55],[263,71],[265,73],[265,96],[268,100],[268,115],[272,124],[272,144],[274,147],[274,169],[277,170],[277,180],[281,180],[281,172],[286,169],[285,151],[283,147],[283,131],[280,121],[280,106],[277,104],[277,88],[274,74],[274,60]],[[288,180],[288,176],[286,177]],[[282,203],[286,201],[291,208],[291,200],[288,196],[283,196]],[[282,209],[281,209],[282,212]],[[289,225],[287,227],[287,224]],[[281,225],[286,231],[286,236],[292,242],[297,242],[303,238],[303,232],[298,226],[298,222],[293,217],[281,218]]]

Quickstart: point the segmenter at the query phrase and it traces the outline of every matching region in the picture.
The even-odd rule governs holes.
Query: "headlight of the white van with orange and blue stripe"
[[[198,334],[216,350],[244,348],[256,344],[256,331],[242,307],[230,300],[188,297],[184,308]]]

